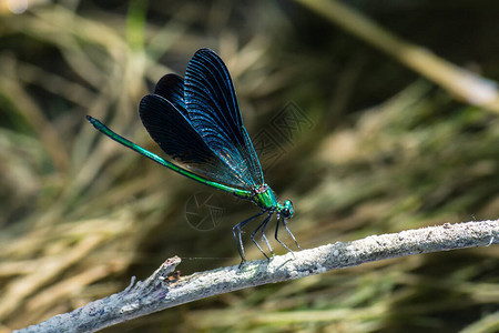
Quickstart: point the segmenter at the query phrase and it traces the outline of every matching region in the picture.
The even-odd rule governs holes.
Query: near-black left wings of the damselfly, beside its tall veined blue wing
[[[179,165],[210,180],[246,188],[192,127],[183,91],[183,79],[167,74],[157,82],[154,94],[142,99],[140,117],[151,138]]]

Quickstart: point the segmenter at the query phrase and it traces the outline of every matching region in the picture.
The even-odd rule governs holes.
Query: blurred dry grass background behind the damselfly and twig
[[[1,0],[0,332],[115,293],[173,255],[183,275],[238,263],[231,229],[255,205],[84,118],[162,155],[140,99],[163,74],[183,75],[203,47],[227,64],[304,249],[496,219],[498,31],[492,0]],[[422,52],[417,65],[408,50]],[[246,251],[263,259],[248,239]],[[415,255],[104,332],[498,332],[498,272],[493,246]]]

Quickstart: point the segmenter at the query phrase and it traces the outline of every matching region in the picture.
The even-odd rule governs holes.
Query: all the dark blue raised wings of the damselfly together
[[[240,189],[264,183],[231,75],[212,50],[193,56],[185,80],[164,75],[154,93],[142,99],[140,117],[175,164]]]

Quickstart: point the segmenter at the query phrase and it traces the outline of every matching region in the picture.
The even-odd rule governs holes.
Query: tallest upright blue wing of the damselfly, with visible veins
[[[210,49],[187,64],[184,100],[193,128],[246,186],[264,183],[262,167],[243,125],[231,75]]]

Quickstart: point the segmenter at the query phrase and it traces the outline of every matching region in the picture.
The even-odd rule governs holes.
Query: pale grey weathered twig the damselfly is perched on
[[[221,268],[189,276],[169,276],[181,260],[176,256],[144,282],[92,302],[70,313],[57,315],[17,332],[95,332],[179,304],[249,286],[344,269],[390,258],[489,246],[499,243],[499,220],[444,224],[361,240],[328,244],[243,265]]]

